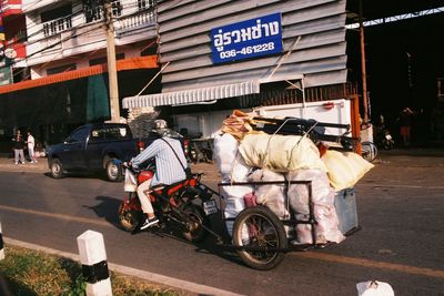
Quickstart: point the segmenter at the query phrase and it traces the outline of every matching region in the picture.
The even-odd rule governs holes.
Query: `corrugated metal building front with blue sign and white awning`
[[[160,1],[162,93],[125,98],[123,105],[163,106],[178,130],[211,137],[233,109],[355,99],[355,89],[345,85],[345,0]],[[345,113],[359,116],[349,104]]]

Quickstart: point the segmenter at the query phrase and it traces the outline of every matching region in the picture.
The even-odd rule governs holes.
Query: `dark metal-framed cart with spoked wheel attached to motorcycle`
[[[245,208],[238,216],[223,220],[234,222],[232,227],[232,245],[225,245],[228,248],[235,249],[242,261],[250,267],[260,271],[268,271],[276,267],[284,258],[286,252],[309,251],[313,248],[323,248],[332,242],[320,242],[316,234],[319,221],[315,215],[315,204],[312,200],[311,181],[263,181],[263,182],[233,182],[219,183],[219,192],[223,186],[236,185],[271,185],[279,184],[285,187],[299,184],[306,186],[309,192],[309,214],[305,220],[296,220],[297,213],[289,206],[286,198],[285,205],[289,215],[284,218],[278,217],[268,206],[255,204],[251,196],[244,197]],[[223,196],[221,196],[223,201]],[[357,224],[356,204],[354,190],[349,188],[336,192],[334,207],[337,213],[339,231],[349,236],[360,229]],[[224,213],[224,211],[222,211]],[[311,243],[297,243],[299,225],[306,225],[311,231]],[[309,226],[310,225],[310,226]],[[310,238],[310,237],[309,237]]]

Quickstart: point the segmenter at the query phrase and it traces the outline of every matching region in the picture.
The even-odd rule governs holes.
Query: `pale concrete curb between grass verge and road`
[[[62,252],[62,251],[58,251],[58,249],[49,248],[49,247],[43,247],[40,245],[26,243],[26,242],[21,242],[21,241],[8,238],[8,237],[3,237],[3,239],[4,239],[4,243],[10,244],[10,245],[30,248],[30,249],[34,249],[34,251],[40,251],[46,254],[58,255],[58,256],[70,258],[74,262],[80,263],[80,255],[78,255],[78,254]],[[151,282],[151,283],[163,285],[163,286],[170,286],[170,287],[173,287],[173,288],[176,288],[180,290],[186,290],[189,293],[193,293],[196,295],[218,295],[218,296],[219,295],[221,295],[221,296],[242,295],[242,294],[236,294],[236,293],[232,293],[232,292],[224,290],[224,289],[219,289],[219,288],[214,288],[214,287],[210,287],[210,286],[205,286],[205,285],[195,284],[192,282],[178,279],[174,277],[154,274],[154,273],[150,273],[150,272],[141,271],[141,269],[135,269],[135,268],[119,265],[119,264],[108,263],[108,267],[112,272],[118,272],[120,274],[124,274],[128,276],[138,277],[138,278],[144,279],[144,280]]]

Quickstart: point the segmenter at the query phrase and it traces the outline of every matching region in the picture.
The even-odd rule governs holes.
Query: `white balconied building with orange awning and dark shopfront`
[[[2,64],[11,76],[0,86],[0,136],[32,126],[50,144],[75,125],[109,120],[109,31],[120,98],[158,71],[154,0],[112,0],[108,18],[104,1],[0,2],[3,51],[14,52]]]

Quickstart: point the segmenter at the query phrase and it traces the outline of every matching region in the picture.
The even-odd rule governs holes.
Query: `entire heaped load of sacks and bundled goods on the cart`
[[[314,131],[315,121],[294,120],[296,125],[282,129],[289,120],[253,118],[235,111],[223,122],[221,134],[214,139],[218,170],[225,184],[245,183],[221,188],[230,235],[233,220],[245,208],[246,201],[268,206],[280,220],[290,220],[291,213],[296,221],[314,216],[315,236],[311,224],[297,224],[294,244],[340,243],[345,238],[337,227],[335,192],[352,187],[373,165],[353,152],[326,150],[321,157],[314,141],[330,141],[332,136],[323,136],[319,129]],[[313,126],[304,125],[309,123]],[[342,137],[337,142],[350,143],[349,140]],[[276,183],[261,184],[264,181]],[[289,181],[311,181],[311,196],[306,184],[285,184]]]

